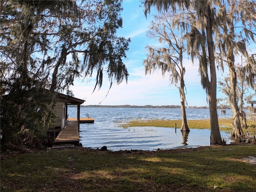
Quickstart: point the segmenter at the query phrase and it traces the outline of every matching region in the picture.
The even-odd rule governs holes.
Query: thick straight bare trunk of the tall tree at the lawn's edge
[[[210,76],[211,81],[208,90],[208,100],[210,107],[210,126],[211,126],[211,135],[210,135],[210,144],[211,145],[221,145],[222,140],[220,136],[220,128],[218,123],[218,114],[217,114],[217,78],[216,78],[216,68],[215,68],[215,58],[214,58],[214,42],[212,39],[212,27],[214,21],[213,11],[210,7],[210,4],[206,6],[206,40],[209,54],[209,63],[210,63]]]

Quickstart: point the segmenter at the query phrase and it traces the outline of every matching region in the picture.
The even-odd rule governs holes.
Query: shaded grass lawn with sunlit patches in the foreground
[[[255,192],[256,145],[1,152],[1,192]]]

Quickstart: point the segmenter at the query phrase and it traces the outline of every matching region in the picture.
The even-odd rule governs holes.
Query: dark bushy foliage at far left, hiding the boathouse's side
[[[41,148],[46,130],[54,126],[51,94],[30,78],[22,86],[19,79],[11,82],[1,98],[1,145]]]

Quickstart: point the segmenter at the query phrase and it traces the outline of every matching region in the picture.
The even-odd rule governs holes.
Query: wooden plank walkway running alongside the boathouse
[[[60,144],[79,144],[78,122],[71,121],[66,124],[66,127],[60,131],[54,145]]]

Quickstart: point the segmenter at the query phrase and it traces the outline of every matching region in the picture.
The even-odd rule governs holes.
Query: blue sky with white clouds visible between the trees
[[[161,71],[145,75],[143,60],[146,59],[146,45],[154,45],[158,40],[146,36],[153,14],[144,16],[144,7],[140,7],[139,0],[125,0],[123,2],[123,27],[118,30],[118,36],[131,38],[127,59],[124,64],[129,76],[128,82],[112,85],[105,75],[100,90],[95,86],[95,76],[91,79],[75,80],[72,90],[74,97],[86,100],[83,105],[179,105],[180,94],[177,86],[170,84],[169,75],[162,76]],[[198,72],[198,63],[184,60],[186,69],[184,81],[186,85],[186,100],[188,106],[208,106],[207,95],[203,90]],[[217,78],[222,76],[217,72]],[[108,94],[108,95],[107,95]],[[107,95],[107,96],[106,96]],[[217,98],[225,97],[217,90]]]

